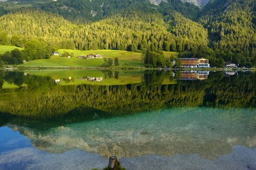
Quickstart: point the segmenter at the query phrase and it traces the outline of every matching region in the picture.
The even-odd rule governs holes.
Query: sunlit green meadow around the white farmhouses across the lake
[[[114,59],[118,57],[119,63],[133,65],[133,66],[143,66],[142,63],[142,54],[138,52],[130,51],[120,51],[120,50],[89,50],[89,51],[80,51],[80,50],[65,50],[60,49],[58,52],[60,55],[63,52],[69,52],[74,54],[74,58],[60,58],[59,56],[53,56],[50,59],[35,60],[30,63],[22,64],[21,66],[63,66],[63,67],[98,67],[104,63],[103,59],[81,59],[76,58],[78,55],[87,55],[92,54],[101,54],[103,58]],[[165,58],[170,58],[171,55],[177,56],[176,52],[164,52]]]

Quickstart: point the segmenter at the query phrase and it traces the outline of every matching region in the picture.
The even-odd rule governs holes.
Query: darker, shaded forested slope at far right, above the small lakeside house
[[[208,28],[209,38],[213,50],[223,51],[229,55],[229,60],[237,55],[239,60],[246,58],[241,66],[247,65],[256,56],[255,40],[255,2],[252,0],[226,0],[211,1],[202,10],[202,17],[199,20],[204,27]],[[231,54],[228,54],[231,53]],[[230,58],[231,57],[231,58]],[[251,63],[255,65],[255,63]]]

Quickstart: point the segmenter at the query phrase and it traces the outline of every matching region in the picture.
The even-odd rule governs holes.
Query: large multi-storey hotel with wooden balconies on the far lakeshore
[[[175,59],[173,61],[173,65],[176,64],[176,60]],[[209,60],[208,59],[197,59],[197,58],[181,58],[181,62],[182,62],[182,67],[185,68],[209,68],[210,64],[209,64]]]

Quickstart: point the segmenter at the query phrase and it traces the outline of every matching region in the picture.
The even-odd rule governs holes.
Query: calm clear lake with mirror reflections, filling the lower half
[[[256,73],[0,72],[0,169],[256,169]]]

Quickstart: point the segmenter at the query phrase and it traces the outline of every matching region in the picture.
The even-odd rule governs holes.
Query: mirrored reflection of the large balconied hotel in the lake
[[[208,78],[208,75],[209,71],[186,70],[181,72],[180,80],[204,80]]]

